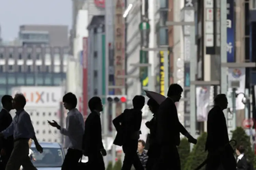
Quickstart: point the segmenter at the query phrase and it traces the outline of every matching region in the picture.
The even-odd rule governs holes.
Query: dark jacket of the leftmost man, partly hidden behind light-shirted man
[[[0,132],[9,127],[12,123],[12,116],[5,109],[0,112]],[[13,150],[13,135],[9,136],[7,139],[3,137],[0,140],[0,150],[5,149],[6,152],[12,152]]]

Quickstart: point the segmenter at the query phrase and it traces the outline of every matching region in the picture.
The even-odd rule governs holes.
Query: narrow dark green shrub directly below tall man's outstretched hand
[[[182,138],[180,146],[178,147],[178,151],[181,159],[181,170],[184,170],[185,164],[187,162],[189,153],[190,153],[190,144],[187,138]]]

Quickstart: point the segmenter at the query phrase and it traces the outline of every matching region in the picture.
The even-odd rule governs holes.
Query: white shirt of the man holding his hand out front
[[[61,128],[60,133],[65,135],[65,149],[70,148],[82,150],[84,118],[76,108],[68,112],[68,116],[66,118],[66,129]]]

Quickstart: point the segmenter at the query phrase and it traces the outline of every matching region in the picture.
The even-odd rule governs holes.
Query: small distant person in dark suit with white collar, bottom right
[[[237,153],[237,170],[248,170],[248,166],[250,163],[247,161],[247,158],[244,155],[244,147],[242,145],[239,145],[236,148]]]

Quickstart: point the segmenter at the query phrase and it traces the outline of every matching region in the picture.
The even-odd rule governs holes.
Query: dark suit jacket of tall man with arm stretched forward
[[[156,115],[156,136],[160,145],[179,146],[180,133],[185,135],[187,130],[180,123],[177,108],[172,99],[166,98]]]

